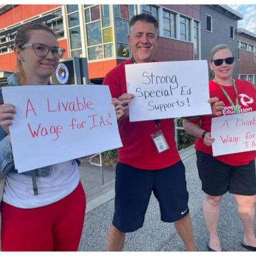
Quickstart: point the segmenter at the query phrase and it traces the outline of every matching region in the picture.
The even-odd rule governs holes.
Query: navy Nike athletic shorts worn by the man
[[[117,163],[113,225],[119,231],[133,232],[143,226],[152,191],[159,201],[162,221],[178,221],[189,213],[181,161],[154,171]]]

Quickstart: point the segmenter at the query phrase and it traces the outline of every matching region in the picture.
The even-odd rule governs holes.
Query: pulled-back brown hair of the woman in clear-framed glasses
[[[14,47],[19,47],[27,43],[31,37],[31,31],[33,30],[44,30],[51,33],[57,38],[54,31],[49,27],[47,27],[47,25],[44,25],[42,23],[29,22],[29,23],[25,23],[24,25],[19,27],[19,29],[17,30]],[[19,49],[22,50],[22,48],[20,47]],[[26,74],[22,67],[21,61],[19,61],[19,59],[17,59],[17,69],[19,71],[19,75],[18,75],[19,84],[22,84],[25,81]]]

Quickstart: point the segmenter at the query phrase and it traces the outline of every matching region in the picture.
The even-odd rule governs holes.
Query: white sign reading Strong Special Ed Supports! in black
[[[211,114],[207,61],[125,65],[130,121]]]

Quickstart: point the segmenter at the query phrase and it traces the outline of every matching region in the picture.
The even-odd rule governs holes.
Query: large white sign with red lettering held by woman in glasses
[[[19,173],[121,147],[109,87],[3,87],[17,113],[10,126]]]

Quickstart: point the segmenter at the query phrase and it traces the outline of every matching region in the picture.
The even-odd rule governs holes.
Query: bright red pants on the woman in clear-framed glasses
[[[2,203],[3,251],[77,251],[85,217],[81,183],[51,205],[21,209]]]

